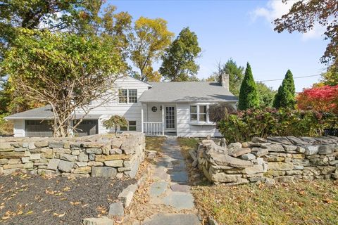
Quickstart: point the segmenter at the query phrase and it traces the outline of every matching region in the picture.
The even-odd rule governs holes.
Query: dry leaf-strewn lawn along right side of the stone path
[[[182,152],[196,148],[198,142],[178,141]],[[196,171],[189,170],[190,176]],[[196,207],[205,218],[214,217],[220,224],[338,224],[337,181],[235,187],[196,184],[205,184],[192,186]]]

